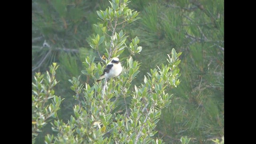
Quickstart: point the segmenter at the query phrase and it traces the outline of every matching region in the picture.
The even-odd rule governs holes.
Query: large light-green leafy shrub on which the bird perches
[[[71,89],[75,92],[73,98],[78,100],[79,104],[74,106],[74,116],[70,117],[67,124],[62,120],[55,120],[52,123],[53,130],[58,134],[57,136],[48,134],[46,143],[52,143],[52,140],[54,143],[69,144],[162,143],[162,140],[154,140],[152,136],[156,134],[154,128],[159,121],[162,108],[170,104],[172,95],[166,93],[166,88],[175,88],[180,84],[178,57],[181,52],[177,53],[172,49],[171,56],[168,55],[167,58],[168,64],[151,69],[147,76],[144,76],[142,84],[132,86],[131,82],[139,72],[139,63],[133,60],[132,55],[141,52],[142,47],[137,46],[138,37],[132,39],[129,47],[126,46],[127,36],[124,36],[122,30],[117,33],[116,26],[119,19],[124,19],[121,23],[130,23],[138,18],[136,11],[132,12],[126,7],[127,1],[119,3],[118,0],[112,0],[110,4],[111,8],[106,11],[98,11],[103,23],[106,22],[104,21],[106,17],[106,26],[112,31],[111,35],[106,33],[106,36],[110,37],[110,42],[105,41],[108,49],[104,54],[110,59],[112,56],[119,56],[122,49],[128,48],[131,56],[126,59],[126,65],[118,80],[110,79],[108,83],[105,80],[104,83],[94,83],[92,86],[87,83],[80,84],[80,76],[69,80],[72,83]],[[99,27],[100,25],[98,24]],[[104,31],[104,27],[101,28]],[[105,35],[94,36],[90,46],[97,49],[98,45],[104,42],[104,37]],[[108,63],[108,59],[104,61]],[[103,71],[103,66],[100,62],[96,64],[94,60],[94,57],[89,56],[85,59],[85,70],[82,73],[92,80],[97,80],[100,72]],[[126,103],[127,97],[131,97],[131,103],[126,104],[126,109],[116,110],[115,102],[123,99]]]

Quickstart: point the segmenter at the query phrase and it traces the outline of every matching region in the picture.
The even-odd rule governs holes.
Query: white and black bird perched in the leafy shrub
[[[119,76],[119,74],[122,72],[122,66],[119,62],[118,58],[112,58],[111,62],[109,62],[106,66],[106,68],[103,71],[103,74],[100,76],[100,78],[97,80],[100,81],[103,78],[114,78],[116,76]]]

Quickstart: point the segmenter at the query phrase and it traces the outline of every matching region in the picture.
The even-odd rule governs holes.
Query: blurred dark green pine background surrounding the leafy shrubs
[[[45,72],[52,62],[60,65],[55,92],[65,98],[58,111],[64,122],[76,104],[68,79],[81,75],[82,82],[92,82],[82,75],[82,62],[89,55],[100,60],[88,42],[101,33],[94,26],[96,10],[108,6],[108,0],[32,0],[32,74]],[[123,29],[128,40],[138,36],[143,48],[135,56],[142,63],[135,84],[150,68],[166,64],[172,48],[182,52],[181,83],[168,91],[174,96],[162,111],[156,137],[167,144],[180,144],[181,136],[192,138],[190,143],[214,143],[224,135],[224,0],[130,0],[128,7],[140,12],[140,19]],[[47,133],[54,134],[50,123],[36,143],[43,144]]]

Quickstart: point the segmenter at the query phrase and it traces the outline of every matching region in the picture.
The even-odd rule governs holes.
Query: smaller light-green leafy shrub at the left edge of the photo
[[[58,66],[53,63],[50,66],[50,73],[36,73],[32,83],[32,143],[35,143],[38,132],[49,122],[50,118],[57,118],[57,111],[63,99],[54,95],[52,89],[58,82],[55,74]],[[52,102],[49,102],[49,100]]]

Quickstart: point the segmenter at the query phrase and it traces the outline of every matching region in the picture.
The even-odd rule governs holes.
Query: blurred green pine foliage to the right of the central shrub
[[[224,134],[223,6],[222,0],[159,0],[144,6],[141,19],[132,26],[130,35],[140,37],[144,47],[136,59],[147,63],[138,78],[162,64],[169,48],[183,52],[182,82],[168,91],[176,96],[157,126],[165,142],[179,143],[186,135],[195,143],[210,143],[210,138]]]

